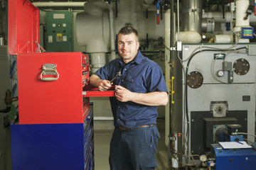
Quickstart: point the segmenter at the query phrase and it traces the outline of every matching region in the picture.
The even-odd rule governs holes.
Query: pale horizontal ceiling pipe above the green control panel
[[[84,7],[86,1],[84,2],[33,2],[32,4],[36,7]]]

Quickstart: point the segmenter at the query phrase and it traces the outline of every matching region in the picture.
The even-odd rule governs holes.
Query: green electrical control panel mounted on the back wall
[[[46,13],[47,52],[73,52],[72,23],[71,11]]]

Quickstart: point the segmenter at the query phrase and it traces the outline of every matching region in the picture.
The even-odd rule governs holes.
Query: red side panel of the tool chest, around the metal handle
[[[20,124],[83,123],[83,57],[80,52],[18,55]],[[42,81],[43,64],[56,64],[59,79]]]

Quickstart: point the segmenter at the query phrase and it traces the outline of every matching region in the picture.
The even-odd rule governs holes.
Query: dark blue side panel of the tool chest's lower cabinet
[[[11,157],[13,170],[85,169],[83,124],[11,125]]]

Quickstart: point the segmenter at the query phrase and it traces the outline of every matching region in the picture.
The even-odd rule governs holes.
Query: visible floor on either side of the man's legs
[[[112,130],[95,130],[94,144],[95,144],[95,170],[109,170],[108,157],[110,154],[110,140],[112,137]],[[164,130],[159,128],[161,137],[159,138],[159,145],[157,146],[156,161],[159,165],[156,170],[168,170],[167,163],[167,147],[164,143]]]

